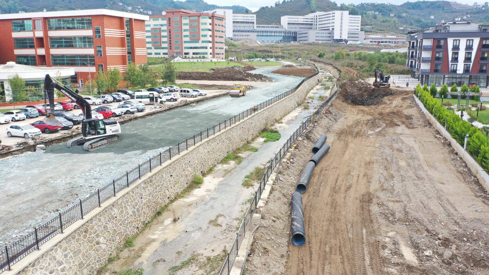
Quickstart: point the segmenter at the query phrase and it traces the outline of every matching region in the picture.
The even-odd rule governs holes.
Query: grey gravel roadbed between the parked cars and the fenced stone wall
[[[276,69],[276,68],[273,68]],[[93,152],[60,143],[44,152],[0,160],[0,241],[25,232],[79,197],[118,177],[187,137],[296,86],[302,78],[263,73],[263,83],[245,97],[220,97],[122,125],[120,140]]]

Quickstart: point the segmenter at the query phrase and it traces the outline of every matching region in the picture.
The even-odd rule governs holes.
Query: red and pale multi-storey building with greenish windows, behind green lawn
[[[168,9],[146,22],[150,57],[224,59],[224,16]]]

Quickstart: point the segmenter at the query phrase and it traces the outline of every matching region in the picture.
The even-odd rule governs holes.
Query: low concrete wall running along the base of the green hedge
[[[454,138],[452,138],[450,136],[450,133],[448,133],[448,131],[445,130],[445,128],[442,126],[442,124],[440,124],[440,122],[438,122],[438,120],[436,120],[436,118],[433,115],[431,115],[428,112],[428,110],[426,110],[426,108],[424,108],[424,105],[422,104],[422,102],[416,96],[413,95],[413,97],[416,100],[416,103],[418,103],[418,105],[420,106],[424,115],[426,115],[426,118],[428,118],[428,120],[431,122],[433,127],[435,127],[435,129],[438,132],[440,132],[440,134],[442,134],[442,136],[444,138],[446,138],[448,141],[450,141],[450,144],[452,145],[452,148],[455,150],[455,152],[457,152],[457,154],[462,158],[462,160],[464,160],[465,163],[467,163],[467,167],[470,169],[470,171],[472,171],[472,174],[474,174],[474,176],[477,177],[477,180],[479,180],[479,183],[481,183],[482,187],[484,187],[484,189],[486,189],[486,191],[489,192],[489,175],[488,175],[488,173],[486,171],[484,171],[484,169],[482,169],[482,167],[479,165],[479,163],[477,163],[477,161],[475,161],[470,156],[470,154],[464,150],[464,147],[462,147],[457,142],[457,140],[455,140]]]

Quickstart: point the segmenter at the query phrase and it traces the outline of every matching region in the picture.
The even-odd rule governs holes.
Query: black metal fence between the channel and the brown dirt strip
[[[292,144],[297,140],[297,138],[303,135],[305,130],[308,128],[308,126],[311,123],[314,123],[314,120],[317,119],[318,116],[322,114],[323,110],[329,106],[331,100],[333,100],[334,96],[338,92],[337,88],[333,88],[333,90],[334,92],[332,92],[330,97],[319,106],[319,108],[313,113],[313,115],[309,116],[308,119],[303,124],[301,124],[301,126],[299,126],[297,130],[295,130],[292,136],[290,136],[287,142],[284,143],[282,148],[280,148],[280,151],[277,154],[275,154],[275,157],[271,159],[270,164],[268,164],[267,170],[263,174],[262,180],[260,181],[260,186],[258,186],[258,189],[255,192],[255,196],[251,200],[251,204],[248,207],[246,214],[244,215],[243,222],[241,223],[240,229],[238,229],[238,232],[236,233],[236,238],[234,239],[234,242],[231,248],[229,249],[229,252],[227,254],[226,259],[224,260],[224,264],[222,265],[221,272],[219,273],[219,275],[228,275],[231,272],[231,268],[233,267],[234,260],[236,259],[241,243],[243,242],[244,233],[248,229],[251,218],[255,213],[256,206],[258,206],[258,202],[260,201],[262,192],[265,189],[265,185],[267,184],[268,178],[270,177],[273,169],[287,154],[287,152],[289,152],[290,146],[292,146]]]

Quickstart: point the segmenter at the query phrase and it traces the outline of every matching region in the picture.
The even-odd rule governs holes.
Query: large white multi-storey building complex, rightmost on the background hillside
[[[363,43],[360,31],[361,16],[348,11],[314,12],[305,16],[282,16],[280,22],[286,30],[297,31],[298,42]]]

